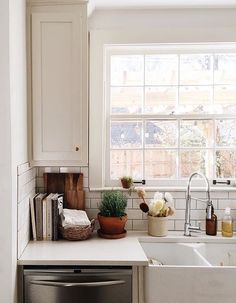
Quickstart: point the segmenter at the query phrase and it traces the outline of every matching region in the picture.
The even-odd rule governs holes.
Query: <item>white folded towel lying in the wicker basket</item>
[[[61,222],[64,228],[71,225],[87,226],[91,224],[84,210],[67,208],[63,209],[63,212],[61,214]]]

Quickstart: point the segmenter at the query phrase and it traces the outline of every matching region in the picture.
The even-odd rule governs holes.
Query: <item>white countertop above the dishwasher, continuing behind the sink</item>
[[[99,238],[96,232],[85,241],[31,241],[18,260],[19,265],[136,265],[148,264],[141,242],[217,242],[236,243],[233,238],[169,231],[166,237],[151,237],[147,232],[128,231],[122,239]]]

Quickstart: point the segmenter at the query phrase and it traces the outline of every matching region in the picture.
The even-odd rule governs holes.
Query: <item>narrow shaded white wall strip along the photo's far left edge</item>
[[[13,302],[9,3],[0,1],[0,302]]]

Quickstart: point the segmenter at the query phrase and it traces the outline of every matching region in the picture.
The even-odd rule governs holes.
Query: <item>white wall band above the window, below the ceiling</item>
[[[101,10],[89,19],[89,30],[156,32],[153,42],[235,41],[236,9]]]

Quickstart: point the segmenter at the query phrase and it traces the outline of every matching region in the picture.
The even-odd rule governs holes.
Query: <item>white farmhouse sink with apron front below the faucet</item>
[[[236,302],[236,243],[140,242],[145,303]],[[158,264],[158,265],[155,265]]]

